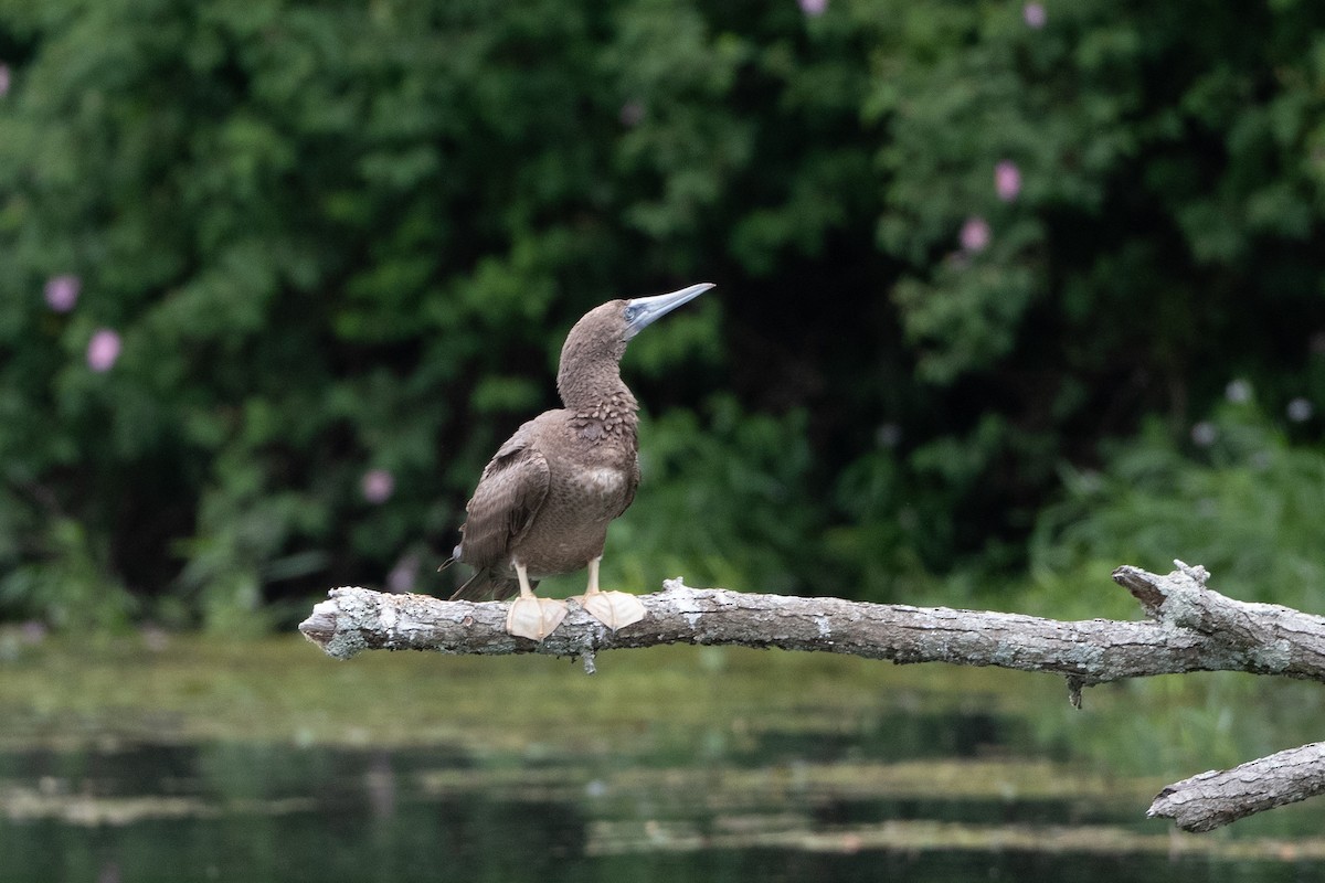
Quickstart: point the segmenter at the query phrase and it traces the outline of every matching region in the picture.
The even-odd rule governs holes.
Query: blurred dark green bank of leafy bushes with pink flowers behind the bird
[[[807,5],[0,0],[0,618],[449,592],[575,318],[700,281],[612,581],[1325,608],[1325,4]]]

